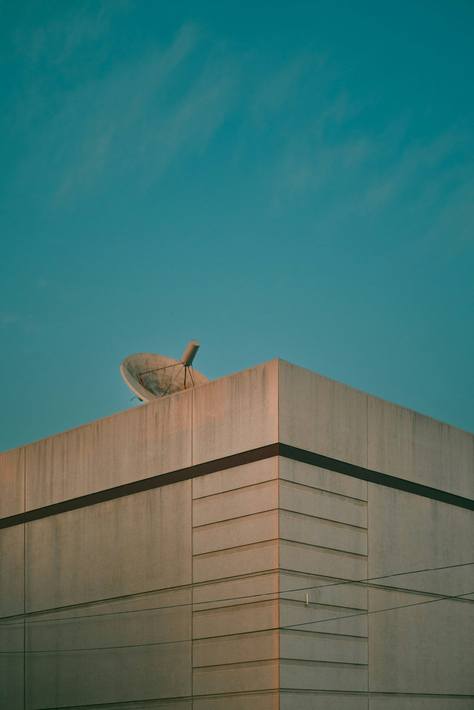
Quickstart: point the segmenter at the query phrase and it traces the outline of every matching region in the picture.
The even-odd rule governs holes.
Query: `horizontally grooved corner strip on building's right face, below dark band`
[[[367,483],[280,458],[279,508],[282,706],[365,707],[367,585],[340,582],[367,579]]]

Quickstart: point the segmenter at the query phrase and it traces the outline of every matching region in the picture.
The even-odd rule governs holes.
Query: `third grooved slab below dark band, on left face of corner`
[[[343,531],[345,532],[345,530]],[[278,537],[278,511],[227,520],[193,530],[193,554],[229,550],[253,542],[275,540]]]

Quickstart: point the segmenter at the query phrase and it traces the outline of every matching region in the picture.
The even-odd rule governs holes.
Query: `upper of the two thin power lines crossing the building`
[[[81,619],[81,618],[96,618],[98,616],[114,616],[118,614],[131,614],[131,613],[139,613],[139,612],[144,612],[144,611],[158,611],[161,609],[176,609],[176,608],[181,608],[183,606],[197,606],[198,604],[211,604],[211,603],[217,603],[220,601],[235,601],[236,599],[254,599],[257,596],[269,596],[271,594],[290,594],[293,591],[305,591],[306,589],[326,589],[327,587],[330,586],[343,586],[347,584],[362,584],[363,582],[367,581],[375,581],[377,579],[388,579],[389,577],[403,577],[406,574],[419,574],[421,572],[438,572],[438,570],[442,569],[453,569],[455,567],[469,567],[470,565],[474,564],[474,562],[463,562],[462,564],[448,564],[446,567],[429,567],[427,569],[414,569],[411,570],[411,572],[396,572],[394,574],[385,574],[382,577],[369,577],[367,579],[351,579],[349,581],[338,581],[338,582],[333,582],[331,584],[316,584],[314,586],[301,586],[297,587],[296,589],[284,589],[281,591],[264,591],[261,592],[260,594],[242,594],[241,596],[228,596],[224,599],[211,599],[207,601],[189,601],[184,604],[170,604],[169,606],[149,606],[144,609],[130,609],[129,611],[104,611],[104,613],[99,613],[99,614],[83,614],[81,616],[67,616],[63,618],[57,618],[57,619],[38,619],[29,621],[28,619],[22,620],[22,621],[3,621],[0,622],[1,625],[3,626],[23,626],[23,623],[28,623],[28,624],[33,624],[33,623],[48,623],[48,622],[56,622],[56,621],[75,621],[76,619]],[[308,575],[311,576],[311,575]],[[192,590],[189,590],[192,591]],[[419,590],[409,590],[409,591],[419,591]],[[164,594],[171,594],[172,592],[164,592]],[[176,591],[175,594],[183,594],[183,592]],[[422,592],[421,592],[422,594]],[[431,594],[431,592],[425,592],[425,594]],[[124,602],[110,602],[110,603],[124,603]],[[42,613],[54,613],[51,611],[43,611]],[[56,612],[60,613],[60,612]],[[65,612],[68,613],[68,612]]]

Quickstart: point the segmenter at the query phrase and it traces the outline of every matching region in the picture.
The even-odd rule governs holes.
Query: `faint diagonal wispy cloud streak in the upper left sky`
[[[168,47],[80,82],[48,120],[32,119],[40,150],[23,175],[50,166],[54,204],[97,189],[106,173],[140,168],[142,180],[156,179],[183,151],[205,149],[235,105],[238,75],[235,58],[206,45],[198,26],[183,26]]]

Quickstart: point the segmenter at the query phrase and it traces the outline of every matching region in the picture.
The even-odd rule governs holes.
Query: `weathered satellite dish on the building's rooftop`
[[[132,392],[142,402],[151,402],[174,392],[209,382],[193,368],[200,343],[190,340],[180,360],[153,353],[136,353],[124,359],[120,372]]]

